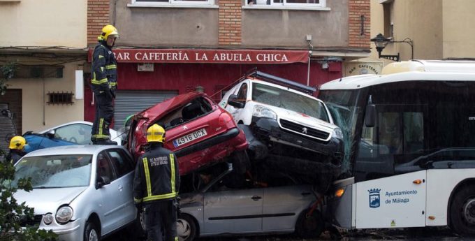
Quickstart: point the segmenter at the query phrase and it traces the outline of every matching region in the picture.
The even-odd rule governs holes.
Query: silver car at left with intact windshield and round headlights
[[[117,145],[68,145],[39,149],[15,164],[15,180],[31,177],[33,190],[17,191],[34,207],[39,228],[59,240],[101,240],[136,221],[133,162]]]

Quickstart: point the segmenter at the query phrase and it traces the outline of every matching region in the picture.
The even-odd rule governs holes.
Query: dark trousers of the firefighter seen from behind
[[[177,207],[175,200],[161,200],[145,205],[147,241],[177,241]]]

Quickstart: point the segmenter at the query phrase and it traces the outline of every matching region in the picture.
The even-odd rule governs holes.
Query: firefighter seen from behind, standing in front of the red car
[[[163,148],[165,130],[158,124],[147,129],[150,149],[138,159],[133,179],[133,200],[145,212],[147,240],[177,241],[177,195],[180,173],[177,156]],[[163,232],[162,233],[162,229]]]

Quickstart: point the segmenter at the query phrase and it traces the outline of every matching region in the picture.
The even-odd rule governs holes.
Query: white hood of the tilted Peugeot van
[[[279,119],[286,119],[292,122],[297,122],[305,126],[313,126],[316,129],[326,129],[329,132],[333,131],[333,129],[338,127],[335,124],[331,124],[321,119],[317,119],[315,117],[311,117],[303,113],[295,112],[293,110],[287,110],[287,109],[279,108],[272,105],[265,105],[263,103],[258,103],[258,105],[263,105],[269,108],[270,110],[274,110],[274,112],[277,114],[277,117]]]

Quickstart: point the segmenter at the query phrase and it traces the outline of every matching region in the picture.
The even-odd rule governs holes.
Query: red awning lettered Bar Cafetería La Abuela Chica
[[[89,62],[93,49],[89,49]],[[119,63],[290,64],[308,63],[307,50],[114,49]]]

